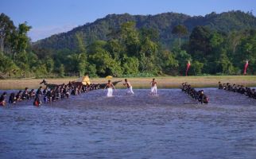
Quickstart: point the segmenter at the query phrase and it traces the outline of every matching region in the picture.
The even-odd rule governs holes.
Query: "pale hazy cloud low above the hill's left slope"
[[[38,28],[32,28],[28,35],[31,38],[32,41],[38,41],[41,39],[44,39],[45,37],[50,37],[53,34],[56,33],[63,33],[67,32],[73,28],[75,28],[77,25],[63,25],[63,26],[57,26],[57,25],[48,25],[48,26],[42,26]]]

